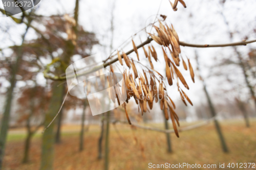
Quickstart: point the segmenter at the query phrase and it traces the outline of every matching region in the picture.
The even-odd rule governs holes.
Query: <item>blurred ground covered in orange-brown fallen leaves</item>
[[[183,127],[187,125],[187,123],[181,123]],[[250,128],[246,128],[242,120],[221,122],[229,153],[222,152],[220,140],[212,123],[197,129],[180,132],[179,138],[175,134],[171,134],[173,153],[167,153],[166,135],[164,133],[131,129],[129,125],[116,125],[117,132],[114,126],[111,125],[110,169],[151,169],[148,168],[149,163],[217,165],[217,168],[209,169],[219,169],[220,163],[225,163],[225,168],[221,169],[232,169],[227,167],[228,163],[230,165],[231,163],[238,163],[238,165],[240,163],[256,163],[256,120],[250,120],[250,125]],[[151,124],[150,126],[163,127],[161,124]],[[55,170],[103,169],[103,159],[97,159],[100,127],[98,125],[91,125],[84,134],[84,150],[82,152],[78,151],[79,129],[79,126],[74,125],[62,127],[62,142],[55,145]],[[24,130],[13,129],[9,132],[4,159],[5,170],[39,169],[41,152],[40,133],[36,134],[32,139],[29,163],[21,163],[26,137],[26,131]],[[183,169],[190,168],[185,166]],[[255,168],[247,167],[240,169]]]

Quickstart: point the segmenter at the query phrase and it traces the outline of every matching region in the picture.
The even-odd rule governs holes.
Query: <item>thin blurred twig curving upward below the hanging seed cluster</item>
[[[192,129],[199,128],[199,127],[201,127],[201,126],[208,125],[208,124],[209,124],[212,120],[214,120],[215,118],[216,118],[216,116],[211,117],[210,119],[206,120],[205,122],[202,122],[202,123],[199,123],[199,124],[196,124],[196,125],[187,126],[187,127],[184,127],[184,128],[180,128],[178,131],[179,131],[179,132],[183,132],[183,131],[192,130]],[[115,120],[115,121],[113,122],[113,124],[116,124],[117,122],[120,122],[120,121],[119,121],[119,120]],[[120,123],[127,124],[127,122],[120,122]],[[158,128],[152,128],[152,127],[141,126],[141,125],[138,125],[138,124],[132,124],[131,126],[134,126],[134,127],[136,127],[136,128],[140,128],[140,129],[150,130],[150,131],[162,132],[162,133],[175,133],[174,129],[171,129],[171,130],[162,130],[162,129],[158,129]]]

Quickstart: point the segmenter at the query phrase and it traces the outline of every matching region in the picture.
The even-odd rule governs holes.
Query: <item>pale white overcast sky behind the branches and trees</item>
[[[115,9],[113,10],[114,49],[122,44],[126,39],[130,38],[134,33],[148,25],[148,23],[153,22],[159,6],[159,14],[167,16],[167,23],[173,23],[181,41],[198,44],[230,42],[227,34],[228,30],[220,12],[224,13],[230,24],[231,31],[235,33],[234,41],[241,41],[245,36],[248,36],[249,40],[256,38],[255,32],[253,33],[253,29],[256,29],[256,1],[254,0],[229,0],[226,1],[224,8],[220,5],[219,1],[214,0],[185,0],[185,3],[187,8],[184,9],[183,6],[179,4],[178,11],[174,12],[170,7],[168,0],[80,0],[79,23],[85,30],[96,33],[100,43],[106,46],[105,48],[102,46],[96,46],[92,52],[92,54],[100,52],[104,57],[107,57],[110,54],[110,20],[113,4],[115,4]],[[41,15],[63,13],[72,14],[74,6],[75,0],[41,0],[37,13]],[[3,8],[1,3],[0,8]],[[9,34],[4,33],[3,30],[8,27],[10,27]],[[9,17],[0,17],[0,28],[2,29],[0,32],[0,47],[4,48],[8,45],[13,45],[13,43],[20,43],[20,34],[24,33],[25,26],[16,26]],[[147,29],[147,31],[150,31],[150,29]],[[145,32],[142,31],[139,35],[141,36],[142,41],[146,39]],[[30,31],[27,36],[27,40],[34,37],[33,31]],[[136,44],[140,43],[139,36],[135,36],[134,40]],[[158,56],[160,58],[160,62],[155,63],[155,61],[153,61],[153,63],[156,70],[165,74],[165,64],[161,48],[154,42],[153,45],[157,48]],[[238,49],[243,55],[246,55],[251,47],[255,48],[256,43],[249,44],[247,46],[240,46]],[[128,51],[131,50],[131,48],[132,44],[130,43],[125,46],[123,50]],[[236,80],[237,84],[242,84],[244,86],[244,78],[239,67],[215,67],[215,65],[220,64],[224,58],[232,57],[233,60],[236,61],[236,55],[233,53],[232,48],[181,47],[182,55],[190,58],[190,61],[194,66],[194,70],[196,71],[197,65],[195,61],[195,50],[197,50],[200,56],[202,75],[204,78],[207,78],[206,84],[210,94],[214,96],[215,103],[226,100],[227,96],[222,95],[221,91],[223,89],[230,89],[230,84],[221,76],[209,77],[210,75],[217,73],[226,74],[229,75],[230,79]],[[139,53],[141,54],[140,58],[144,58],[142,49],[139,50]],[[132,54],[131,56],[135,56],[135,54]],[[146,59],[144,60],[146,61]],[[183,67],[182,64],[181,67]],[[210,69],[211,67],[212,69]],[[187,93],[193,103],[204,103],[205,96],[202,90],[201,81],[196,77],[196,83],[193,84],[189,76],[189,71],[184,71],[183,68],[180,70],[185,76],[190,88],[189,90],[186,90],[185,88],[182,89]],[[233,86],[235,85],[236,84]],[[242,90],[245,91],[244,94],[248,94],[247,89]],[[177,88],[175,86],[169,87],[168,92],[174,100],[178,99]],[[232,93],[234,93],[234,91]],[[243,95],[242,98],[247,99],[248,95]]]

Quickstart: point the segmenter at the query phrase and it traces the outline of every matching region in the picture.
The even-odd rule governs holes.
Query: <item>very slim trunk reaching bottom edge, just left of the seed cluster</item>
[[[109,134],[110,134],[110,111],[106,112],[104,170],[109,169]]]

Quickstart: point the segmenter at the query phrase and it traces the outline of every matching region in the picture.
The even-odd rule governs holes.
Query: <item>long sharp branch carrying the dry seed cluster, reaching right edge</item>
[[[142,47],[142,46],[144,46],[144,45],[146,45],[146,44],[148,44],[148,43],[150,43],[151,41],[153,41],[153,39],[152,39],[152,38],[148,38],[147,40],[145,40],[144,42],[142,42],[141,44],[139,44],[139,45],[137,46],[137,49],[140,48],[140,47]],[[202,44],[189,44],[189,43],[186,43],[186,42],[183,42],[183,41],[180,41],[179,43],[180,43],[181,46],[190,46],[190,47],[204,48],[204,47],[224,47],[224,46],[246,45],[246,44],[248,44],[248,43],[253,43],[253,42],[256,42],[256,40],[241,41],[241,42],[234,42],[234,43],[227,43],[227,44],[204,44],[204,45],[202,45]],[[133,53],[133,52],[134,52],[134,49],[132,49],[132,50],[126,52],[125,54],[126,54],[126,55],[129,55],[129,54],[131,54],[131,53]],[[123,58],[123,55],[121,55],[121,58]],[[106,62],[106,61],[105,61],[104,64],[103,64],[103,66],[104,66],[104,67],[109,66],[109,65],[111,65],[111,64],[113,64],[113,63],[115,63],[115,62],[117,62],[117,61],[118,61],[118,57],[112,59],[112,60],[109,61],[109,62]],[[88,70],[88,71],[83,72],[82,75],[90,74],[91,72],[97,71],[97,70],[99,70],[100,68],[101,68],[101,66],[95,66],[95,67],[92,68],[91,70]],[[66,76],[59,77],[59,76],[50,76],[50,75],[48,75],[48,70],[49,70],[49,69],[46,69],[46,70],[44,71],[44,77],[45,77],[46,79],[51,79],[51,80],[66,80]],[[78,75],[77,75],[77,76],[78,76]],[[81,75],[79,75],[79,76],[81,76]],[[68,77],[68,78],[69,78],[69,77]]]

